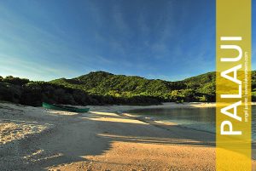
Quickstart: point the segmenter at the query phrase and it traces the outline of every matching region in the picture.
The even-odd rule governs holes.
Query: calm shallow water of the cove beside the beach
[[[192,109],[140,109],[129,113],[142,117],[149,117],[162,123],[177,123],[186,128],[194,128],[215,133],[215,108]],[[256,106],[252,106],[253,140],[256,140]]]

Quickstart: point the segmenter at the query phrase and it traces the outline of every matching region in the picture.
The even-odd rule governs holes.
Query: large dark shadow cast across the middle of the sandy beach
[[[35,121],[38,120],[40,119],[35,118]],[[47,170],[56,165],[86,161],[85,156],[101,155],[111,149],[113,141],[160,145],[215,145],[214,134],[175,125],[155,127],[119,115],[89,112],[74,116],[48,116],[43,123],[55,124],[55,128],[1,145],[0,165],[9,170]]]

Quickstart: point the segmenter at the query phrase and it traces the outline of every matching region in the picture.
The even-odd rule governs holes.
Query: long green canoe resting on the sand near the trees
[[[60,111],[73,111],[73,112],[79,112],[79,113],[88,112],[90,110],[90,108],[77,108],[69,105],[55,105],[55,104],[51,105],[45,102],[43,102],[43,107],[46,109],[53,109],[53,110],[60,110]]]

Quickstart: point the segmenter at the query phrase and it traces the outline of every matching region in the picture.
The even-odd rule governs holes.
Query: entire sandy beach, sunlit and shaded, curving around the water
[[[121,112],[214,106],[104,105],[79,114],[0,103],[0,170],[215,170],[215,134]]]

